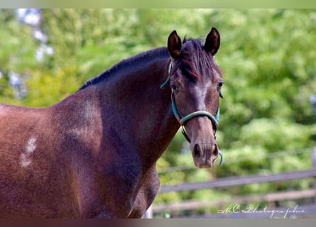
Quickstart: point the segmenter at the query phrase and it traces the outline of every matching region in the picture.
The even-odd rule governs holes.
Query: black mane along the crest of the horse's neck
[[[156,48],[148,50],[146,52],[141,52],[138,55],[134,55],[134,57],[129,57],[121,60],[108,70],[102,72],[96,77],[93,77],[92,79],[87,80],[87,82],[85,82],[85,84],[80,87],[78,92],[89,87],[92,84],[98,84],[99,82],[104,81],[104,79],[107,79],[110,75],[129,72],[130,70],[133,70],[136,65],[142,65],[142,63],[151,62],[152,60],[156,60],[157,58],[162,57],[169,57],[167,48]]]

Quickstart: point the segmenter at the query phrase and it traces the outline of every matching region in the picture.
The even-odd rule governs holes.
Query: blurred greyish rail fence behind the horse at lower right
[[[285,199],[301,199],[301,198],[312,198],[314,197],[314,204],[304,205],[297,207],[295,211],[288,211],[286,217],[290,216],[306,216],[306,215],[316,215],[316,148],[312,151],[312,169],[311,170],[301,170],[293,172],[283,172],[275,175],[251,175],[246,177],[224,177],[221,179],[216,179],[212,182],[192,182],[184,183],[172,186],[163,186],[160,189],[161,193],[168,192],[182,192],[182,191],[192,191],[199,189],[209,189],[209,188],[221,188],[221,187],[236,187],[245,184],[254,183],[265,183],[265,182],[283,182],[293,179],[304,179],[312,177],[315,179],[314,187],[312,189],[304,191],[295,192],[278,192],[263,195],[251,195],[251,196],[234,196],[231,200],[234,203],[248,203],[251,201],[283,201]],[[202,207],[209,206],[219,206],[228,204],[229,201],[182,201],[179,204],[160,204],[153,205],[146,212],[146,217],[153,217],[153,212],[158,211],[182,211],[189,209],[199,209]],[[273,217],[284,217],[285,214],[282,211],[287,211],[288,208],[278,208],[278,210],[273,213]],[[300,212],[301,211],[301,212]],[[223,214],[209,214],[206,216],[193,216],[195,218],[263,218],[270,217],[272,211],[266,212],[223,212]]]

